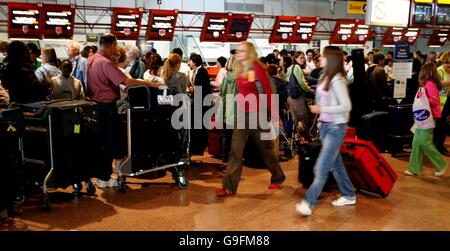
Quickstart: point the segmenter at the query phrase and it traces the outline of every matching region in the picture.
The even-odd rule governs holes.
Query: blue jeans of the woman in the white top
[[[342,196],[348,199],[355,198],[352,182],[348,178],[342,163],[341,154],[339,153],[346,131],[346,124],[322,123],[320,126],[322,149],[314,165],[314,181],[306,192],[305,197],[311,208],[316,206],[317,199],[327,182],[330,172],[333,173]]]

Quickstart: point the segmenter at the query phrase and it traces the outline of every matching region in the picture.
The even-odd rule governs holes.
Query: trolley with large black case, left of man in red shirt
[[[99,146],[95,136],[99,129],[97,105],[88,101],[54,100],[21,106],[25,115],[23,185],[42,187],[43,206],[48,211],[52,189],[72,185],[78,196],[81,181],[85,181],[88,194],[95,194],[90,169],[96,165],[92,162],[93,154]]]

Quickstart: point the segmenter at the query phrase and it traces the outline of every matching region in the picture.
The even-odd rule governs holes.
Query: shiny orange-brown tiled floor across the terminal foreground
[[[125,194],[98,190],[94,197],[53,196],[53,211],[39,209],[39,196],[21,206],[23,216],[0,223],[2,230],[450,230],[450,172],[406,177],[408,159],[384,155],[399,174],[385,199],[358,194],[357,205],[333,208],[338,191],[325,192],[312,217],[301,217],[295,203],[305,193],[297,181],[298,157],[283,162],[282,189],[267,189],[266,170],[245,168],[238,194],[217,198],[224,167],[209,157],[190,168],[190,185],[181,190],[170,175],[152,184],[130,184]],[[132,180],[142,182],[143,180]],[[70,191],[70,188],[68,189]]]

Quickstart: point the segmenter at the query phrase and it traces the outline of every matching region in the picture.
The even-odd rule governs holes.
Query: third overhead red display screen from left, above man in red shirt
[[[137,40],[141,31],[142,12],[137,8],[114,8],[111,33],[120,40]]]

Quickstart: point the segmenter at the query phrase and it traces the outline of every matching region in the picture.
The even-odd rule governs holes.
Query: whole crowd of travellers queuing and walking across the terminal
[[[0,43],[2,66],[0,68],[0,104],[30,103],[52,99],[81,99],[98,103],[100,126],[102,128],[103,150],[100,153],[102,166],[96,174],[100,188],[117,186],[111,177],[112,166],[118,165],[120,156],[115,137],[120,124],[117,101],[121,99],[120,85],[146,85],[167,88],[174,94],[183,93],[201,97],[214,94],[222,102],[225,124],[236,123],[234,107],[241,107],[245,122],[251,113],[259,113],[264,107],[250,109],[245,104],[227,100],[227,95],[278,94],[280,115],[288,113],[295,125],[303,128],[302,137],[310,141],[309,129],[314,118],[320,123],[320,140],[323,144],[315,166],[315,179],[306,192],[306,197],[297,204],[297,211],[311,215],[323,189],[329,172],[339,186],[342,196],[333,201],[334,206],[356,203],[352,184],[346,174],[339,153],[352,109],[348,87],[357,85],[358,74],[363,69],[370,96],[371,110],[383,110],[386,97],[392,97],[393,53],[386,55],[378,49],[364,58],[364,66],[354,65],[351,55],[338,47],[327,46],[320,53],[318,49],[302,51],[274,50],[273,53],[258,58],[255,46],[242,42],[231,52],[229,59],[217,59],[219,71],[211,78],[200,55],[189,55],[188,63],[183,62],[183,51],[173,49],[163,59],[156,50],[141,53],[135,45],[119,47],[112,34],[102,35],[99,48],[85,46],[70,41],[67,44],[67,59],[59,60],[53,48],[42,48],[33,44],[13,41]],[[448,154],[444,147],[447,135],[447,116],[450,104],[446,102],[450,86],[450,52],[428,53],[426,60],[420,52],[414,54],[412,78],[408,80],[404,102],[413,103],[419,87],[424,87],[432,107],[436,127],[418,129],[413,143],[413,154],[407,175],[421,173],[422,156],[427,154],[434,160],[436,175],[442,176],[447,162],[441,154]],[[422,64],[424,66],[422,67]],[[199,88],[201,87],[201,88]],[[268,100],[270,106],[270,99]],[[194,104],[195,110],[208,107]],[[272,111],[274,112],[274,111]],[[237,192],[242,173],[242,158],[249,139],[255,142],[262,153],[265,166],[271,172],[270,189],[277,189],[285,180],[278,164],[276,147],[270,141],[261,140],[259,135],[265,129],[226,130],[228,146],[227,169],[223,176],[223,187],[218,196],[229,196]],[[207,147],[207,131],[193,130],[198,139],[191,145],[193,154],[203,154]],[[433,136],[434,134],[434,136]],[[434,144],[430,143],[434,142]]]

